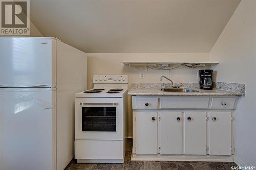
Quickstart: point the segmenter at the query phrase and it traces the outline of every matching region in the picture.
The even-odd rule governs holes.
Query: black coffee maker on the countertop
[[[199,70],[199,85],[200,89],[212,90],[214,83],[212,82],[212,69],[201,69]]]

